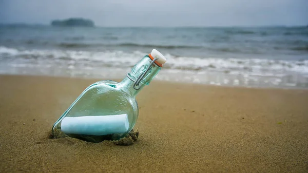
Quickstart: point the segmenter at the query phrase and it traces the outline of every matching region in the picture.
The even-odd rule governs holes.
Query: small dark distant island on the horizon
[[[52,26],[84,26],[94,27],[94,22],[84,18],[68,18],[66,20],[53,20]]]

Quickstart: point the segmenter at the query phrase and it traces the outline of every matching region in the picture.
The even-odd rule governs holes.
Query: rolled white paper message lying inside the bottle
[[[127,114],[114,116],[65,117],[61,130],[67,134],[88,134],[101,136],[112,133],[125,133],[129,122]]]

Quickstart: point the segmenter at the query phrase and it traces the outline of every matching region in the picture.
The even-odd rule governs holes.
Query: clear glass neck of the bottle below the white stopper
[[[151,62],[152,60],[148,55],[144,56],[143,59],[141,59],[136,65],[134,65],[131,71],[127,74],[129,78],[126,76],[126,78],[124,78],[123,81],[119,83],[119,87],[128,92],[132,97],[136,97],[139,91],[142,90],[145,85],[149,85],[149,83],[153,80],[153,78],[161,69],[161,67],[159,67],[155,63],[153,63],[149,67]],[[139,85],[134,87],[134,81],[136,81],[138,77],[141,76],[148,68],[150,69],[146,72],[143,79],[141,79]]]

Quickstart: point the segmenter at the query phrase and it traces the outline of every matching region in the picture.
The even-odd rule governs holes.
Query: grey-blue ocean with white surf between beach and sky
[[[122,79],[155,48],[155,80],[308,88],[308,27],[0,25],[0,74]]]

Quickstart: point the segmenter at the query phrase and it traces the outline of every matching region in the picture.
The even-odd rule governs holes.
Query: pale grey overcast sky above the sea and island
[[[0,0],[0,23],[68,17],[98,26],[308,25],[308,0]]]

